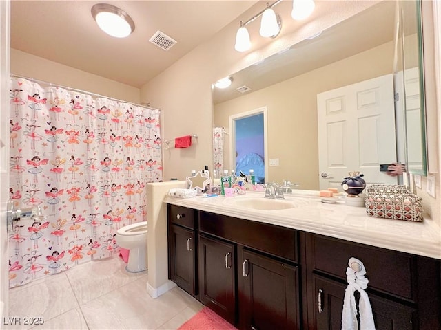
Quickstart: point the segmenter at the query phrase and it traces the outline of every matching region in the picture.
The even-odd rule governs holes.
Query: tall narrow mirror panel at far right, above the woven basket
[[[404,109],[406,167],[427,175],[421,2],[400,1],[398,13],[397,107]]]

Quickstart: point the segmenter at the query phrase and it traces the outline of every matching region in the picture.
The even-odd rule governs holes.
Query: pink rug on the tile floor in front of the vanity
[[[195,316],[185,322],[178,330],[237,330],[208,307],[204,307]]]

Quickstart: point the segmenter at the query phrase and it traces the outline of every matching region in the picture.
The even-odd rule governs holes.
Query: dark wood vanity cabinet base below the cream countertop
[[[239,329],[341,329],[355,257],[376,330],[441,330],[440,260],[181,206],[167,212],[170,279]]]

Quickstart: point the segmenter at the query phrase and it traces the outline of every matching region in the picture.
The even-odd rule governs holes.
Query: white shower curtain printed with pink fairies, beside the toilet
[[[30,80],[10,81],[10,199],[41,208],[9,228],[10,287],[118,252],[162,181],[159,111]]]

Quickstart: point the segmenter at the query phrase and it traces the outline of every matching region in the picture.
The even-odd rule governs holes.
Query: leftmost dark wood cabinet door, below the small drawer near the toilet
[[[196,296],[196,242],[194,231],[170,225],[170,279],[192,296]]]

